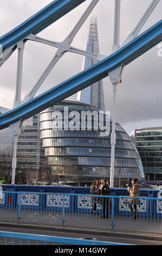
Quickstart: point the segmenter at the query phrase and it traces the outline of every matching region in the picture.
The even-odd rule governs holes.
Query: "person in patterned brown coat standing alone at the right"
[[[132,188],[127,188],[130,197],[139,197],[140,195],[140,185],[137,183],[137,179],[132,179]],[[137,218],[137,204],[139,199],[131,198],[129,205],[131,205],[132,218]],[[134,208],[134,209],[133,209]]]

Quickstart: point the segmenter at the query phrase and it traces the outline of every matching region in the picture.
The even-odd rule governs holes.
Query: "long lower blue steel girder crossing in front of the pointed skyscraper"
[[[84,70],[72,78],[69,78],[67,81],[49,89],[47,92],[35,97],[33,100],[0,115],[0,129],[4,129],[18,120],[28,119],[56,102],[105,78],[108,76],[109,72],[121,65],[127,65],[133,62],[134,59],[137,59],[139,56],[150,50],[161,40],[162,20],[89,69]]]

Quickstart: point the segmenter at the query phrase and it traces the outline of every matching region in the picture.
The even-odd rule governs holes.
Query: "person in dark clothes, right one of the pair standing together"
[[[102,194],[103,196],[108,196],[111,192],[108,183],[105,181],[105,179],[100,179],[99,182],[99,194]],[[103,197],[102,198],[102,216],[101,218],[108,218],[108,205],[109,205],[109,198]]]

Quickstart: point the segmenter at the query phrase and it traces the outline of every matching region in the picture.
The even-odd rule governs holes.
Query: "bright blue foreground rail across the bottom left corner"
[[[66,243],[66,245],[128,245],[126,243],[114,243],[97,240],[84,240],[60,236],[35,235],[3,231],[0,231],[0,236],[4,237],[4,245],[9,244],[8,242],[10,238],[12,238],[10,242],[12,245],[42,245],[40,242],[44,242],[44,245],[64,245],[64,243]]]

